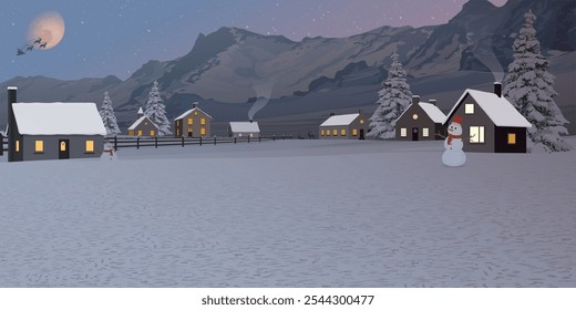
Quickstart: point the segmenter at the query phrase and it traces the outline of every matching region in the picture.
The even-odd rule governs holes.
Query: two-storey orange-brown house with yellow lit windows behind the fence
[[[184,112],[174,122],[176,136],[210,136],[212,116],[198,108],[197,102],[193,104],[193,108]]]

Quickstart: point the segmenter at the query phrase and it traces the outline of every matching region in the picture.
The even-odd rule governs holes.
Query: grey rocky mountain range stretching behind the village
[[[463,87],[502,79],[502,71],[512,60],[512,42],[529,9],[538,17],[535,27],[545,53],[576,51],[574,0],[508,0],[501,8],[487,0],[470,0],[452,20],[438,27],[382,27],[349,38],[317,37],[299,42],[220,28],[200,34],[184,56],[150,61],[126,81],[114,76],[79,81],[16,78],[1,87],[19,86],[22,101],[99,104],[104,91],[109,91],[121,127],[134,121],[156,80],[169,117],[188,108],[192,101],[200,101],[210,106],[206,108],[217,121],[246,120],[251,103],[263,96],[270,97],[272,103],[261,114],[270,112],[266,116],[282,115],[287,110],[298,114],[347,106],[376,108],[376,92],[394,50],[415,93],[460,93]],[[556,68],[562,74],[575,72],[570,66]],[[501,74],[481,79],[479,72]],[[0,100],[6,106],[6,99]],[[560,106],[569,104],[574,103],[559,102]],[[0,117],[4,123],[4,113]],[[576,117],[567,117],[576,123]]]

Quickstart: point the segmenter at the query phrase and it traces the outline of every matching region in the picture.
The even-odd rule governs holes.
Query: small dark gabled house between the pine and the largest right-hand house
[[[421,102],[420,96],[412,96],[410,104],[395,122],[397,141],[431,141],[445,136],[446,115],[436,106],[436,101]]]

